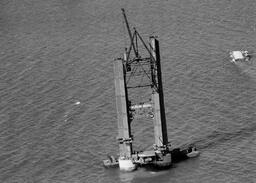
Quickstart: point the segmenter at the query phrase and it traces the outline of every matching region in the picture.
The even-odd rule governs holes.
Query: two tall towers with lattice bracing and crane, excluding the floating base
[[[147,45],[138,31],[131,31],[124,9],[122,9],[128,30],[130,45],[124,57],[114,62],[115,93],[118,121],[119,152],[122,157],[132,157],[133,136],[131,122],[138,115],[136,111],[146,110],[145,116],[153,119],[155,151],[168,151],[168,135],[164,108],[164,95],[160,65],[159,41],[149,38]],[[136,90],[150,90],[150,101],[133,101]],[[137,92],[138,93],[138,92]],[[146,92],[145,92],[146,93]]]

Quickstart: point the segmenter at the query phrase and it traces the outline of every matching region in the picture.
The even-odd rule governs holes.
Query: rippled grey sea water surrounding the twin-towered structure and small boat
[[[159,36],[170,141],[201,151],[167,171],[101,165],[118,153],[121,7],[145,39]],[[228,62],[229,50],[256,50],[255,9],[254,0],[1,0],[0,182],[256,182],[256,75]],[[150,147],[152,126],[137,126],[138,148]]]

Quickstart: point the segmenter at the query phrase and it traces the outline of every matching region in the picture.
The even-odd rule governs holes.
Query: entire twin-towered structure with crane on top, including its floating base
[[[122,14],[130,44],[123,57],[114,60],[119,157],[105,160],[105,166],[118,165],[124,171],[138,166],[169,168],[173,160],[188,158],[188,151],[171,150],[168,142],[159,41],[150,36],[146,43],[136,28],[130,29],[124,9]],[[153,121],[154,142],[149,150],[133,148],[131,124],[136,118]]]

